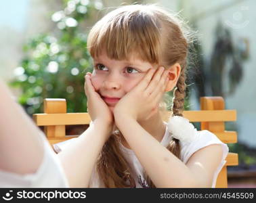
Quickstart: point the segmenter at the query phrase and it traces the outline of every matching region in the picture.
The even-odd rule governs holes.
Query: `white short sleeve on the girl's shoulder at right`
[[[186,164],[194,152],[213,144],[221,145],[223,151],[221,162],[219,163],[219,166],[213,175],[212,187],[215,187],[217,176],[219,175],[219,172],[223,166],[226,164],[226,157],[228,156],[229,152],[228,145],[226,143],[223,143],[215,134],[211,133],[210,131],[198,131],[198,138],[196,140],[192,141],[191,143],[181,144],[181,159]]]

